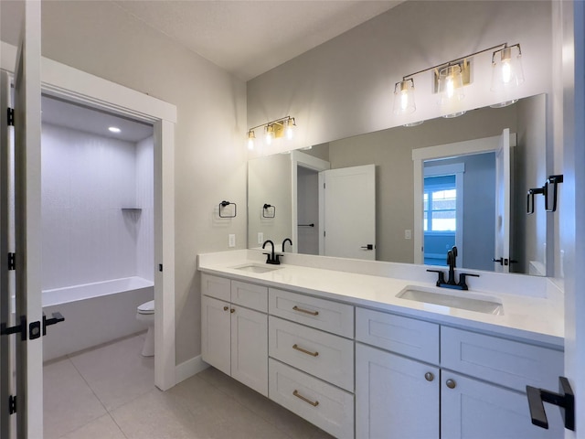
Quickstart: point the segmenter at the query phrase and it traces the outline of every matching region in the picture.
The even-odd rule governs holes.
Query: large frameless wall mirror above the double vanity
[[[249,247],[291,238],[286,252],[442,265],[456,245],[459,267],[546,275],[541,199],[527,215],[527,189],[547,178],[546,127],[543,94],[252,159]]]

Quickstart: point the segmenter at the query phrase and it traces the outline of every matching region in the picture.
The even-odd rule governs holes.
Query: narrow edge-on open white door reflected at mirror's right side
[[[510,129],[505,128],[495,152],[494,270],[510,273]]]

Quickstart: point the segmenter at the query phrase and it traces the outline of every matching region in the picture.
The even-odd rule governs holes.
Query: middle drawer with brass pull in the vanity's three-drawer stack
[[[270,316],[269,355],[354,391],[354,342]]]

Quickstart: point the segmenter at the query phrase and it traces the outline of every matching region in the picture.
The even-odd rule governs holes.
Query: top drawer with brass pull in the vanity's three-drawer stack
[[[271,288],[269,309],[274,316],[343,337],[354,337],[354,307],[351,305]]]

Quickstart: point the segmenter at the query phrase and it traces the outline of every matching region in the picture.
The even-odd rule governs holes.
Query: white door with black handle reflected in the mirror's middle
[[[330,169],[320,177],[320,253],[376,261],[376,166]]]

